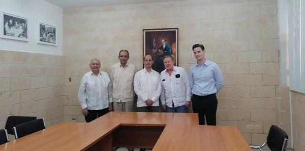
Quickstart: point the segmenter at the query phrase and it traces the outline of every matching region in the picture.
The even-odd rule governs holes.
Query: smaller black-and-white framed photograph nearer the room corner
[[[57,46],[56,27],[37,22],[37,43]]]

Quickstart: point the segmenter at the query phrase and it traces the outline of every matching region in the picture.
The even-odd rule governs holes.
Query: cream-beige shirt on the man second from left
[[[125,67],[120,63],[112,65],[110,80],[114,102],[129,102],[134,100],[133,79],[135,73],[136,66],[134,64],[127,63]]]

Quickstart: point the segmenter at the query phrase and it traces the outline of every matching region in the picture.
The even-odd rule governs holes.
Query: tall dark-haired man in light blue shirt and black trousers
[[[205,59],[204,46],[193,45],[197,60],[190,68],[190,87],[192,89],[193,111],[198,113],[199,125],[216,125],[217,98],[216,93],[223,87],[223,77],[215,62]]]

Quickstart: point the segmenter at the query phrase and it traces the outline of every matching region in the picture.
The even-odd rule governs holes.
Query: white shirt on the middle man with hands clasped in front
[[[138,95],[137,107],[147,106],[145,103],[147,99],[154,101],[152,106],[159,106],[161,82],[157,71],[151,69],[148,72],[145,68],[138,71],[135,74],[134,88]]]

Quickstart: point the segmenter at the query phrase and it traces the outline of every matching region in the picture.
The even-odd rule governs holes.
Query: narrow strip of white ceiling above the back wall
[[[45,0],[61,8],[81,8],[90,6],[125,5],[141,3],[158,3],[182,0]]]

